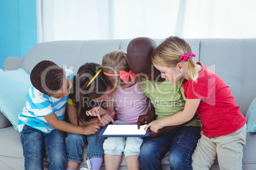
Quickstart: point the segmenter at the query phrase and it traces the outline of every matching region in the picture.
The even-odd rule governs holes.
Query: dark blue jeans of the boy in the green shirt
[[[162,169],[161,160],[169,150],[171,170],[192,169],[191,158],[200,133],[201,128],[183,126],[157,138],[144,138],[138,157],[141,169]]]

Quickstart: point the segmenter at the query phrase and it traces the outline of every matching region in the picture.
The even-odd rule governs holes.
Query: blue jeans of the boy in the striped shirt
[[[24,126],[20,133],[23,147],[25,169],[43,169],[43,157],[46,154],[48,169],[66,169],[67,156],[65,139],[66,133],[57,129],[46,134],[38,129]]]

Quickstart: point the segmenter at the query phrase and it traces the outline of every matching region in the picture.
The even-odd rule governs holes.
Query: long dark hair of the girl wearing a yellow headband
[[[71,89],[73,93],[69,94],[69,98],[75,101],[77,117],[80,121],[88,121],[90,119],[90,117],[85,114],[85,111],[95,107],[97,103],[94,102],[93,99],[104,95],[110,86],[103,71],[89,84],[92,77],[94,77],[101,68],[101,65],[97,63],[85,63],[78,69],[75,75],[73,89]],[[88,84],[89,86],[87,87]]]

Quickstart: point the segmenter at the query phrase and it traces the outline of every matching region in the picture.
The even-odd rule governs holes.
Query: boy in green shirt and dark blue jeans
[[[129,67],[139,75],[141,89],[152,100],[153,107],[155,107],[153,109],[155,112],[148,112],[146,115],[139,116],[138,128],[143,124],[148,124],[155,118],[162,119],[167,115],[176,114],[177,110],[183,110],[185,104],[185,99],[181,99],[183,96],[181,89],[183,80],[177,84],[166,82],[160,77],[159,70],[153,67],[151,54],[156,47],[155,41],[148,37],[133,39],[127,47]],[[160,91],[156,89],[160,89]],[[176,89],[174,93],[165,93],[166,91],[173,91],[173,89]],[[166,99],[172,98],[173,94],[176,95],[174,98],[179,98],[179,100],[171,101],[176,102],[176,104],[174,104],[174,107],[169,107],[169,101]],[[166,105],[162,107],[158,101],[166,101]],[[181,103],[179,107],[176,107],[177,103]],[[161,169],[161,160],[169,150],[171,150],[169,166],[172,170],[192,169],[191,157],[201,132],[199,119],[193,119],[179,126],[167,126],[157,133],[152,131],[150,137],[145,138],[141,146],[138,158],[141,169]]]

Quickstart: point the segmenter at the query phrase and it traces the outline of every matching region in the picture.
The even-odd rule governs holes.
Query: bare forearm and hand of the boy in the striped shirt
[[[54,112],[50,115],[45,115],[44,118],[52,128],[75,134],[96,134],[102,126],[99,123],[93,123],[86,127],[75,126],[68,122],[60,121]]]

